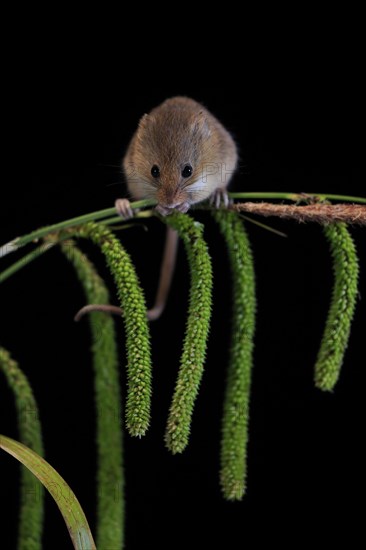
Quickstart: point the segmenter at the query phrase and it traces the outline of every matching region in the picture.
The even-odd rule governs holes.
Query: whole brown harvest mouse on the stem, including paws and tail
[[[205,199],[228,205],[227,186],[236,169],[237,148],[230,133],[200,103],[188,97],[167,99],[143,115],[123,159],[129,194],[134,200],[154,199],[162,216],[187,212]],[[128,199],[117,199],[117,212],[132,217]],[[174,271],[177,233],[168,228],[160,283],[150,320],[165,305]],[[89,305],[88,311],[121,313],[116,306]]]

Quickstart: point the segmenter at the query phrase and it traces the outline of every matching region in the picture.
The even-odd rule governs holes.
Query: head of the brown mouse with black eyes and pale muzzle
[[[202,181],[211,129],[204,111],[155,109],[140,120],[124,168],[138,196],[157,200],[167,215],[187,212],[210,192]]]

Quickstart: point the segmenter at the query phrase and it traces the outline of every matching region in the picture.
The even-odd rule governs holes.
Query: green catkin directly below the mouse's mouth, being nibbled
[[[212,268],[203,226],[186,214],[172,214],[165,223],[176,229],[184,242],[190,267],[191,287],[183,352],[166,428],[165,442],[173,453],[188,444],[193,408],[203,375],[212,303]]]

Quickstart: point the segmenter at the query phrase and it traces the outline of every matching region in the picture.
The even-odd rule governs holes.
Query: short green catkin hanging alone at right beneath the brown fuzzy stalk
[[[338,381],[355,312],[358,258],[346,224],[324,227],[333,258],[334,287],[317,361],[315,386],[332,391]]]

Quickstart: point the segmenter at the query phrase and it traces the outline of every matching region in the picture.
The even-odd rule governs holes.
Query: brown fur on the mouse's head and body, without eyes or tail
[[[141,118],[123,168],[132,198],[152,198],[168,210],[186,211],[219,189],[225,190],[236,163],[236,145],[220,122],[193,99],[174,97]],[[186,164],[193,168],[190,178],[181,175]],[[151,175],[154,165],[160,169],[158,179]],[[207,177],[214,166],[216,175]],[[205,185],[191,187],[202,176],[206,176]]]

